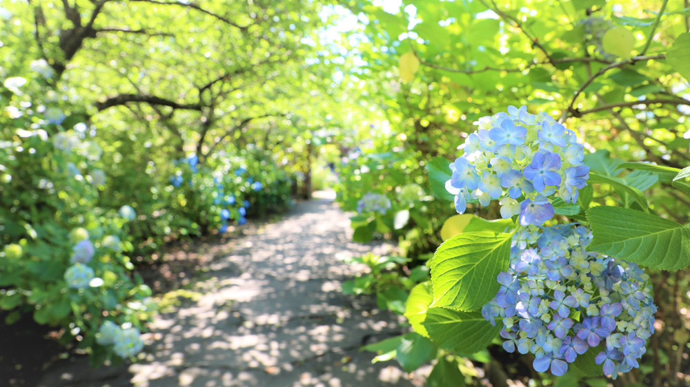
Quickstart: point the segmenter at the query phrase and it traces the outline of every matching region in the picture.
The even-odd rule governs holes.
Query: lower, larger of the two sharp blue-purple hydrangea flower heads
[[[649,276],[637,264],[585,251],[591,233],[572,224],[513,236],[511,264],[482,308],[508,352],[531,353],[539,372],[563,375],[587,351],[615,379],[639,366],[654,332]]]

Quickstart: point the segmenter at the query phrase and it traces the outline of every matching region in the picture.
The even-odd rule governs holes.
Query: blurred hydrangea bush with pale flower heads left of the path
[[[130,326],[130,339],[141,342],[155,311],[122,242],[134,210],[99,207],[108,185],[103,151],[81,116],[64,113],[70,107],[55,93],[41,93],[50,67],[31,68],[37,78],[15,76],[0,87],[0,308],[8,324],[30,313],[63,327],[61,340],[77,339],[92,364],[121,361],[141,346],[102,346],[97,326]]]

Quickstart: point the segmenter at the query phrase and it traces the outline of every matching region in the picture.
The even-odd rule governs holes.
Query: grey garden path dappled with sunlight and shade
[[[369,298],[344,295],[363,270],[340,258],[386,245],[351,242],[332,193],[235,241],[161,313],[137,364],[90,370],[81,361],[48,370],[41,386],[413,386],[396,362],[371,364],[362,344],[397,335],[400,319]]]

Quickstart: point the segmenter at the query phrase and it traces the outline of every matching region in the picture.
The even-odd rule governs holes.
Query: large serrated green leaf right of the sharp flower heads
[[[663,270],[690,264],[690,228],[649,213],[593,207],[587,220],[594,238],[589,249]]]

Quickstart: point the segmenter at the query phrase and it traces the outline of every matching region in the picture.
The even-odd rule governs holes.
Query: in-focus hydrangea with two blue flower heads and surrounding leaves
[[[615,379],[639,368],[657,311],[642,266],[687,266],[687,225],[640,211],[643,196],[602,177],[622,162],[585,155],[575,133],[547,114],[511,106],[475,125],[453,163],[429,163],[435,196],[450,193],[461,215],[444,224],[445,242],[427,263],[431,281],[406,302],[417,351],[428,338],[469,355],[501,337],[505,351],[555,376],[574,369]],[[684,173],[638,169],[631,176],[652,182]],[[627,190],[638,209],[595,205],[592,180]],[[500,219],[466,214],[493,200]]]

